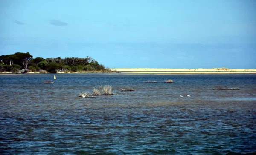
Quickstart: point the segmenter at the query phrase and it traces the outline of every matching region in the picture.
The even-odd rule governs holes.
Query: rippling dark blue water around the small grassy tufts
[[[0,154],[256,153],[256,75],[53,76],[0,75]]]

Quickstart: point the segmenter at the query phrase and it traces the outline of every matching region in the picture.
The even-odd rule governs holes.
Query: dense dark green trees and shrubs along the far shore
[[[111,72],[104,65],[99,64],[92,57],[78,58],[66,57],[62,59],[42,57],[33,58],[27,53],[17,52],[12,55],[0,56],[0,72],[19,72],[21,69],[26,72]]]

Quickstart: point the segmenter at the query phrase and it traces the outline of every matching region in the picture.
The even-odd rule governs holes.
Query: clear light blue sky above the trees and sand
[[[256,0],[0,0],[0,55],[256,68]]]

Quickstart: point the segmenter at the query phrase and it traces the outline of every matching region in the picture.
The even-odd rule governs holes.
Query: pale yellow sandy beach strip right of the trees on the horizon
[[[138,74],[239,74],[251,73],[256,74],[256,69],[227,69],[227,68],[212,68],[212,69],[157,69],[157,68],[116,68],[111,69],[121,73],[138,73]]]

